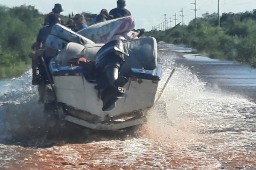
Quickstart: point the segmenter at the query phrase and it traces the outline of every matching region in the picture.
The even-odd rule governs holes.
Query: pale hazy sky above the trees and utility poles
[[[64,12],[61,14],[68,15],[71,11],[74,14],[83,11],[98,14],[103,8],[110,11],[116,8],[116,0],[0,0],[0,4],[4,6],[20,6],[23,4],[35,6],[41,13],[49,13],[52,11],[55,3],[61,3]],[[164,14],[166,18],[174,19],[175,13],[177,23],[182,21],[180,10],[184,11],[184,24],[188,24],[195,18],[195,0],[126,0],[127,6],[134,16],[136,28],[145,28],[147,31],[152,29],[152,26],[164,22]],[[196,0],[197,17],[202,14],[218,11],[218,0]],[[244,12],[256,9],[256,0],[220,0],[220,13],[228,12]],[[169,23],[170,26],[170,23]],[[174,26],[174,22],[172,23]]]

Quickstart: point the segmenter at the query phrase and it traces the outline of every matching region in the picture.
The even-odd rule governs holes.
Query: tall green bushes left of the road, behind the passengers
[[[51,8],[49,8],[49,11]],[[88,24],[96,14],[83,13]],[[0,79],[19,76],[30,65],[29,53],[45,14],[34,6],[0,6]],[[61,16],[66,23],[68,16]]]

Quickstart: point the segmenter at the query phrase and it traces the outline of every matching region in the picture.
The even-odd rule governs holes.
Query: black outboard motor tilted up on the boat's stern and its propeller
[[[125,53],[122,41],[114,40],[105,44],[96,54],[96,89],[101,90],[103,101],[102,111],[110,111],[115,102],[124,97],[125,89],[122,87],[128,82],[126,77],[119,75]]]

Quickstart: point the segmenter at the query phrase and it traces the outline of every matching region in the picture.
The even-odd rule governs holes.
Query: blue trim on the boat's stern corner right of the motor
[[[138,68],[131,68],[131,77],[137,79],[160,80],[162,76],[162,68],[160,64],[154,70],[145,70]]]

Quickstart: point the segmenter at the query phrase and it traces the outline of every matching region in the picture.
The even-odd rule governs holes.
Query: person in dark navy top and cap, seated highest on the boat
[[[125,6],[125,0],[117,0],[117,8],[112,9],[109,14],[113,15],[114,18],[130,16],[131,12]]]

